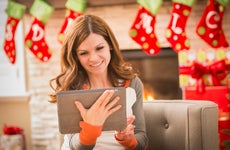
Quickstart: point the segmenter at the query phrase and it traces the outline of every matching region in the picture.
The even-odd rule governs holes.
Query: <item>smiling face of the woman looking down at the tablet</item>
[[[77,49],[78,59],[88,75],[105,75],[111,59],[110,47],[103,36],[91,33]]]

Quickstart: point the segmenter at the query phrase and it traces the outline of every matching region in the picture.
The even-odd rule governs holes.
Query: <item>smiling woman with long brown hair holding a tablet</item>
[[[55,82],[55,87],[52,83]],[[62,149],[146,149],[148,142],[142,108],[142,82],[132,66],[123,60],[118,42],[109,26],[93,15],[78,17],[68,28],[61,49],[61,73],[50,81],[56,101],[59,91],[127,87],[127,127],[122,131],[102,131],[103,123],[121,108],[114,91],[106,90],[86,109],[76,101],[81,113],[81,132],[65,135]]]

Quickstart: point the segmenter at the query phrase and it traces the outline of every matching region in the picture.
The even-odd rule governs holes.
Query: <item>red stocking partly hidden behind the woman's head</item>
[[[58,41],[62,43],[64,38],[64,33],[70,23],[76,19],[78,16],[81,16],[86,9],[86,0],[67,0],[66,4],[66,14],[64,23],[61,27],[61,30],[58,33]]]

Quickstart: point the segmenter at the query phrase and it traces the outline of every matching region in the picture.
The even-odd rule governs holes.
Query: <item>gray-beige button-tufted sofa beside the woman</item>
[[[143,104],[149,150],[218,150],[218,106],[211,101]]]

